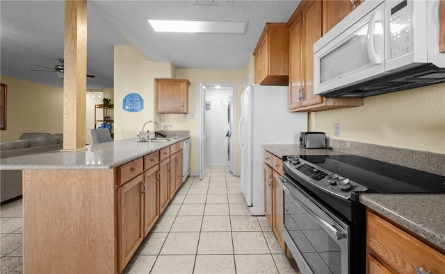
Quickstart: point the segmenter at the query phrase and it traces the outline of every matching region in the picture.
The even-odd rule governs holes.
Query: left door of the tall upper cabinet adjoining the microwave
[[[289,28],[289,109],[302,107],[302,18]]]

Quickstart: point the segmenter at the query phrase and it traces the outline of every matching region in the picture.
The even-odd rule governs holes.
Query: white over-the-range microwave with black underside
[[[314,44],[314,94],[367,97],[445,82],[439,2],[362,2]]]

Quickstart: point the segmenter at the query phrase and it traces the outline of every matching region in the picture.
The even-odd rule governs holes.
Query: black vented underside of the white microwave
[[[356,85],[341,87],[323,96],[326,98],[364,98],[437,83],[445,83],[445,69],[426,64]]]

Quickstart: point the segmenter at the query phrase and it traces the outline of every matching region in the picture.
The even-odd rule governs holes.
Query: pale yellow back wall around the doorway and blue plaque
[[[136,138],[136,134],[147,120],[160,124],[172,123],[169,130],[189,130],[191,135],[191,173],[197,173],[197,119],[183,114],[156,112],[156,81],[155,78],[188,79],[191,82],[188,93],[188,112],[197,117],[199,83],[236,83],[234,96],[243,92],[245,73],[243,69],[175,69],[170,62],[152,62],[133,46],[115,46],[114,67],[114,100],[115,100],[115,140]],[[144,110],[141,112],[126,112],[122,110],[122,100],[126,94],[136,92],[143,96]],[[237,105],[238,108],[238,105]],[[239,110],[237,111],[239,115]],[[236,117],[238,121],[239,117]],[[147,130],[157,130],[152,123],[147,124]],[[236,140],[236,144],[238,141]],[[237,172],[241,151],[237,146]]]

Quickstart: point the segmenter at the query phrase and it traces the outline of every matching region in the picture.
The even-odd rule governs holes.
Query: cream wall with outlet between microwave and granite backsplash
[[[340,137],[334,123],[340,123]],[[443,154],[445,83],[371,96],[362,107],[313,112],[309,129],[333,139]]]

